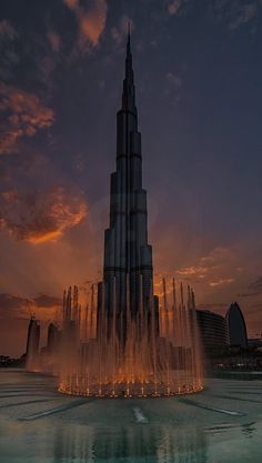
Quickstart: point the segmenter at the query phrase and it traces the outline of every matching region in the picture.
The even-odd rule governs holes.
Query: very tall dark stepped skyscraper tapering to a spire
[[[111,174],[110,227],[104,234],[103,265],[103,306],[109,318],[115,306],[121,331],[124,332],[127,304],[133,318],[140,310],[149,310],[152,282],[152,246],[148,243],[147,191],[142,188],[141,133],[129,32],[122,105],[117,114],[117,169]]]

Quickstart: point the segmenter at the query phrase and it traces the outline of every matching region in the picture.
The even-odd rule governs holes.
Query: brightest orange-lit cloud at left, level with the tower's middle
[[[32,244],[58,240],[87,215],[84,199],[72,197],[63,188],[30,194],[4,191],[0,210],[0,230]]]

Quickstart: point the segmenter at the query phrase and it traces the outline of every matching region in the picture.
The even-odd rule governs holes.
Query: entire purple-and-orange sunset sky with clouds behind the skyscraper
[[[0,354],[101,278],[129,21],[155,282],[262,332],[262,1],[2,0]]]

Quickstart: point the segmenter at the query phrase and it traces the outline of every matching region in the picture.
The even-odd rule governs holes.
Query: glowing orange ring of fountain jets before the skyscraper
[[[69,289],[63,303],[60,392],[100,397],[142,397],[188,394],[203,387],[192,289],[188,286],[184,302],[181,283],[177,303],[173,280],[172,303],[169,304],[163,280],[159,321],[155,320],[151,293],[149,311],[142,311],[141,304],[135,319],[127,301],[127,335],[123,339],[119,335],[121,315],[117,304],[113,316],[104,316],[102,323],[98,323],[94,285],[83,316],[78,289],[74,286],[73,294]]]

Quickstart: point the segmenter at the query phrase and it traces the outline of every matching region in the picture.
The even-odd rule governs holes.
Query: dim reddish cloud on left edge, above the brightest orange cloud
[[[53,111],[34,93],[0,83],[0,154],[16,152],[22,137],[53,123]]]

